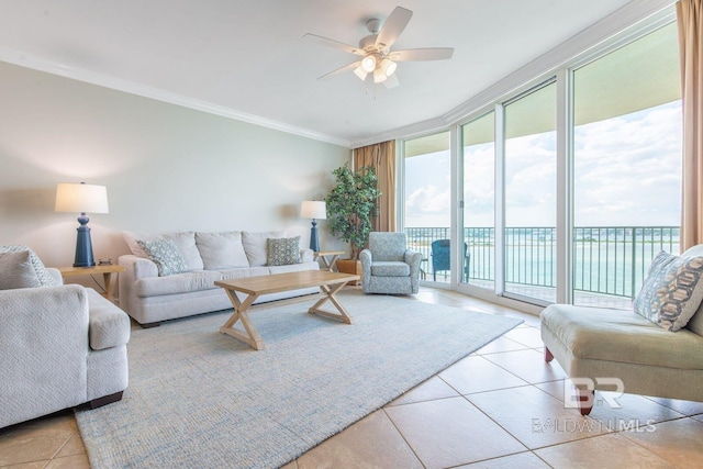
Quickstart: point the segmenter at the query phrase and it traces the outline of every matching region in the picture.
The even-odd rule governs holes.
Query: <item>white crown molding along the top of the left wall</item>
[[[8,64],[18,65],[20,67],[31,68],[34,70],[44,71],[52,75],[58,75],[60,77],[70,78],[74,80],[83,81],[91,85],[98,85],[109,89],[124,91],[131,94],[136,94],[144,98],[154,99],[157,101],[163,101],[170,104],[180,105],[183,108],[189,108],[197,111],[202,111],[210,114],[233,119],[236,121],[242,121],[242,122],[259,125],[267,129],[272,129],[275,131],[286,132],[286,133],[302,136],[305,138],[325,142],[333,145],[339,145],[346,148],[352,147],[352,142],[344,138],[338,138],[332,135],[313,132],[308,129],[287,125],[278,121],[261,118],[259,115],[249,114],[246,112],[237,111],[235,109],[226,108],[219,104],[213,104],[211,102],[201,101],[193,98],[188,98],[181,94],[177,94],[170,91],[165,91],[158,88],[153,88],[153,87],[137,83],[134,81],[110,77],[108,75],[97,74],[93,71],[85,70],[85,69],[68,67],[63,64],[45,60],[43,58],[35,57],[30,54],[21,53],[21,52],[9,49],[9,48],[0,47],[0,62],[5,62]]]

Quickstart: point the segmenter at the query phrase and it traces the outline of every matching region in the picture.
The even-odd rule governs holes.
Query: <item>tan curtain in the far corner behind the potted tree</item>
[[[378,176],[379,215],[375,232],[395,231],[395,141],[364,146],[354,150],[354,168],[371,166]]]

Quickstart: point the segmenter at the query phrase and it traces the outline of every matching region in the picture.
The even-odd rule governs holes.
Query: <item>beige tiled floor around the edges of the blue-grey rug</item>
[[[703,467],[703,403],[625,394],[581,417],[543,360],[537,317],[439,289],[416,299],[525,323],[286,469]],[[0,429],[2,468],[88,466],[70,412]]]

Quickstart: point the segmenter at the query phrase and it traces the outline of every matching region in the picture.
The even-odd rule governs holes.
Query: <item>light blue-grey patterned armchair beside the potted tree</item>
[[[359,260],[365,293],[417,293],[422,254],[406,248],[405,233],[370,233]]]

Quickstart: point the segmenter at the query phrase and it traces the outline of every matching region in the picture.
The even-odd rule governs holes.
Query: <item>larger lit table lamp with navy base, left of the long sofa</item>
[[[78,212],[78,237],[76,238],[76,259],[74,267],[92,267],[89,219],[86,213],[108,213],[108,191],[104,186],[91,186],[85,182],[59,183],[56,186],[56,212]]]

